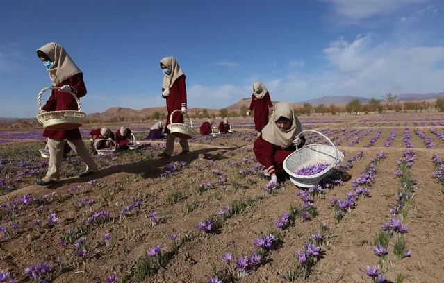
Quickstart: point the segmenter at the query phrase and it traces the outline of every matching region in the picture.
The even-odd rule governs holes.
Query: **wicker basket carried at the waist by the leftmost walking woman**
[[[80,128],[83,123],[83,117],[86,116],[85,112],[82,112],[80,106],[79,98],[72,92],[69,92],[77,103],[77,108],[79,110],[58,110],[43,112],[40,99],[42,94],[49,89],[60,89],[60,87],[45,87],[42,89],[37,96],[37,104],[40,114],[35,116],[37,121],[43,125],[43,128],[47,130],[72,130]]]

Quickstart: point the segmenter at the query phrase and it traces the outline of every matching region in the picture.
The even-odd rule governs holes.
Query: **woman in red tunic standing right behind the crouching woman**
[[[273,111],[273,103],[270,94],[263,83],[256,82],[253,85],[252,103],[249,104],[247,116],[254,110],[254,130],[261,132],[268,123],[268,110]]]

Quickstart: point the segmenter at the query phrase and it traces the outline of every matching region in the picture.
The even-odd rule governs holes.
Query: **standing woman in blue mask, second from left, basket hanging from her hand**
[[[174,112],[172,123],[183,123],[183,114],[186,114],[186,85],[185,74],[174,57],[165,57],[161,60],[161,69],[163,71],[162,97],[167,101],[167,123],[165,124],[165,134],[167,134],[167,144],[165,151],[159,155],[162,158],[169,158],[174,151],[174,135],[171,135],[170,116],[174,110],[181,110],[180,113]],[[186,155],[190,152],[187,139],[179,139],[182,147],[179,155]]]

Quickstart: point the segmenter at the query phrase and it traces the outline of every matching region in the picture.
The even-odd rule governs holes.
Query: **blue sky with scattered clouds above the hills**
[[[444,91],[442,0],[3,2],[0,117],[37,114],[47,42],[83,71],[87,113],[165,105],[164,56],[187,75],[189,108],[236,103],[256,80],[289,102]]]

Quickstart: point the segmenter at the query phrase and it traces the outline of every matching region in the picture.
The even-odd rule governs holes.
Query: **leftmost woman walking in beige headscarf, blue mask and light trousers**
[[[83,74],[72,61],[65,49],[55,42],[48,43],[37,50],[37,55],[46,67],[54,87],[44,111],[77,110],[77,103],[72,94],[81,98],[86,94]],[[47,175],[36,182],[40,186],[54,185],[60,180],[60,165],[63,158],[65,141],[81,157],[86,164],[86,171],[79,175],[85,177],[98,171],[97,164],[88,153],[83,143],[79,128],[73,130],[44,130],[43,136],[48,138],[49,166]]]

